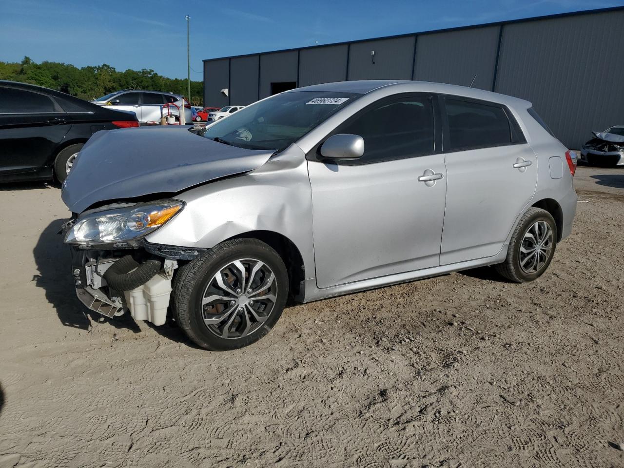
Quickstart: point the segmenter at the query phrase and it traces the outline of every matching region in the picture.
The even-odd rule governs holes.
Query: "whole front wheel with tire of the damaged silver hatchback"
[[[225,241],[184,265],[173,281],[173,313],[198,346],[242,348],[267,334],[288,297],[280,255],[256,239]]]

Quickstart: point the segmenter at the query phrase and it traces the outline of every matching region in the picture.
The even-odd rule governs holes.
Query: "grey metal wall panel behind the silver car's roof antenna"
[[[422,34],[414,79],[492,90],[500,26]],[[475,78],[475,75],[477,76]]]

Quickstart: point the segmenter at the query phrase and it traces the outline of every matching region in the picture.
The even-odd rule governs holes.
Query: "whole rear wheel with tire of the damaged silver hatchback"
[[[541,208],[529,208],[515,227],[507,258],[495,268],[515,283],[533,281],[550,265],[556,246],[557,224],[552,215]]]

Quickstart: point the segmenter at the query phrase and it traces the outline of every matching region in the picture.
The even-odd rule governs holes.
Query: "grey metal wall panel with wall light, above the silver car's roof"
[[[413,36],[356,42],[349,51],[349,80],[409,80],[413,61]]]

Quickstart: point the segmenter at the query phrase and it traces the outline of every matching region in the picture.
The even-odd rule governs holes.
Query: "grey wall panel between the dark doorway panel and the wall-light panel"
[[[299,56],[299,86],[344,81],[349,46],[304,49]]]

